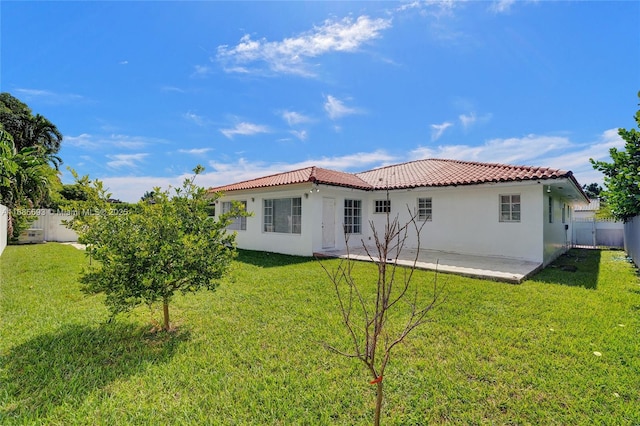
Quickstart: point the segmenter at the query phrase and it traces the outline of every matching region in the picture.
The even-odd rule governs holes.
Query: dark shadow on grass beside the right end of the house
[[[571,249],[531,279],[595,290],[598,287],[600,257],[599,249]]]

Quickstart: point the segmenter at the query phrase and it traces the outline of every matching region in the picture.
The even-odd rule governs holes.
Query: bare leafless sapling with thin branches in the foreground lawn
[[[387,198],[388,199],[388,198]],[[357,282],[354,263],[349,248],[349,233],[345,229],[346,259],[341,259],[335,269],[320,262],[333,283],[342,314],[342,321],[350,337],[350,349],[343,350],[325,343],[325,346],[348,358],[361,361],[376,385],[374,425],[380,424],[383,402],[383,377],[391,360],[393,348],[403,342],[417,327],[429,321],[428,314],[446,299],[438,284],[437,270],[431,286],[413,281],[420,253],[420,235],[425,221],[419,221],[417,213],[407,206],[409,218],[401,222],[399,216],[391,218],[387,211],[384,232],[369,221],[375,247],[369,247],[361,239],[369,260],[378,270],[375,293],[368,283]],[[407,249],[410,237],[415,236],[415,254],[411,260],[399,262]],[[403,263],[404,266],[400,265]]]

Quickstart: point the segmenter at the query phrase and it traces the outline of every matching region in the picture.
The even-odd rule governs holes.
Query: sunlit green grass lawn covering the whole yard
[[[169,334],[149,331],[158,308],[107,323],[79,291],[86,262],[53,243],[0,258],[0,424],[372,422],[367,372],[322,347],[348,339],[314,260],[241,252],[217,292],[176,297]],[[572,250],[521,285],[438,279],[446,303],[385,376],[385,424],[640,424],[640,279],[623,252]]]

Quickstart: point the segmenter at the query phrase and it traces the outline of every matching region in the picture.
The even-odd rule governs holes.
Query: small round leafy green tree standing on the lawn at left
[[[202,170],[194,169],[196,176]],[[85,292],[106,294],[112,315],[161,302],[163,329],[169,330],[176,292],[213,291],[228,272],[236,252],[235,234],[226,226],[244,213],[209,217],[210,198],[194,184],[196,176],[173,191],[154,188],[155,203],[140,201],[135,211],[99,211],[84,229],[79,241],[99,262],[80,281]]]

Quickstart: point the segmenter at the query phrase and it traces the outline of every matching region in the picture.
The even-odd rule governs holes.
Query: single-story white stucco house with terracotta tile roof
[[[373,246],[370,223],[384,231],[386,213],[424,221],[420,247],[499,256],[547,265],[571,246],[575,205],[589,199],[570,171],[425,159],[345,173],[306,167],[211,188],[216,214],[238,201],[239,248],[312,256]],[[403,222],[404,221],[404,222]],[[411,235],[407,248],[415,248]]]

